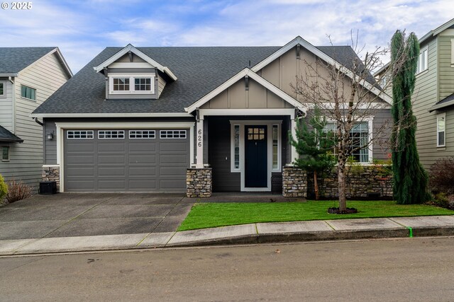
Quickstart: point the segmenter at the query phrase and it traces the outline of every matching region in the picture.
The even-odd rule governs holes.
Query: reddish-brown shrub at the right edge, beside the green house
[[[454,194],[454,156],[436,161],[431,166],[429,180],[433,191]]]

